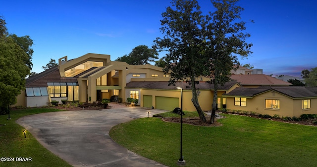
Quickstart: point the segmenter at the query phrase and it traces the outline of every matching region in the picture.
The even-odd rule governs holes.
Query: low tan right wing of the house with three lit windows
[[[279,117],[317,114],[317,87],[236,88],[223,94],[227,109]]]

